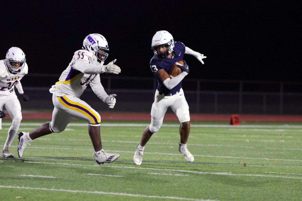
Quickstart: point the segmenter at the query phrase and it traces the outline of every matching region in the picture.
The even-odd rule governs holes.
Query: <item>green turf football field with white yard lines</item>
[[[1,149],[10,123],[2,122]],[[22,121],[20,131],[42,123]],[[120,154],[104,165],[92,156],[85,122],[34,140],[24,158],[17,134],[16,158],[0,159],[0,200],[302,200],[302,124],[191,122],[195,160],[188,163],[178,152],[178,123],[164,122],[137,166],[133,155],[147,124],[102,122],[104,150]]]

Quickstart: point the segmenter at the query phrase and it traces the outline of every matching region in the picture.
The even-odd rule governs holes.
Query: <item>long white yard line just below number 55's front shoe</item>
[[[302,177],[280,177],[273,175],[261,175],[261,174],[232,174],[231,172],[201,172],[191,170],[173,170],[173,169],[160,169],[160,168],[141,168],[135,166],[116,166],[116,165],[82,165],[82,164],[69,164],[69,163],[47,163],[47,162],[30,162],[24,161],[24,163],[35,163],[35,164],[51,164],[51,165],[74,165],[74,166],[89,166],[89,167],[108,167],[108,168],[128,168],[128,169],[143,169],[143,170],[158,170],[158,171],[175,171],[175,172],[186,172],[193,174],[216,174],[216,175],[228,175],[228,176],[251,176],[251,177],[276,177],[276,178],[287,178],[287,179],[302,179]]]

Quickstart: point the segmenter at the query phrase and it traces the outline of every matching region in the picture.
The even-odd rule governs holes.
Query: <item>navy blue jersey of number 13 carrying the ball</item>
[[[164,60],[158,60],[154,55],[150,61],[150,68],[151,71],[154,73],[154,77],[157,79],[157,90],[159,93],[175,93],[182,88],[182,82],[178,83],[174,88],[169,90],[160,80],[159,76],[157,75],[157,71],[160,69],[164,69],[167,73],[169,73],[170,68],[173,64],[177,61],[181,61],[184,58],[186,51],[186,47],[182,42],[174,42],[174,50],[173,50],[173,58],[165,58]]]

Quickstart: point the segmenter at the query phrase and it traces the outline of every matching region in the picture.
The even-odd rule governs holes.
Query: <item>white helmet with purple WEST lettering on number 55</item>
[[[108,42],[104,36],[98,33],[92,33],[86,36],[83,41],[83,49],[94,53],[99,63],[104,63],[108,57],[108,53],[105,52],[109,50]],[[101,55],[101,58],[99,58],[99,55]]]

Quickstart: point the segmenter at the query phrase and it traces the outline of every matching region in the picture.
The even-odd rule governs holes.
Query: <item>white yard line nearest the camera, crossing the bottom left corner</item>
[[[50,189],[50,188],[23,187],[23,186],[2,186],[2,185],[0,185],[0,188],[61,191],[61,192],[70,192],[70,193],[107,194],[107,195],[130,196],[130,197],[145,197],[145,198],[159,198],[159,199],[177,199],[177,200],[193,200],[193,201],[214,201],[214,200],[210,200],[210,199],[194,199],[194,198],[185,198],[185,197],[149,196],[149,195],[138,195],[138,194],[129,194],[129,193],[115,193],[115,192],[104,192],[104,191],[65,190],[65,189],[54,189],[54,188]],[[218,201],[218,200],[215,199],[215,201]]]

